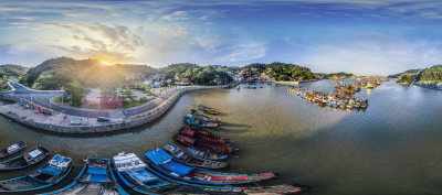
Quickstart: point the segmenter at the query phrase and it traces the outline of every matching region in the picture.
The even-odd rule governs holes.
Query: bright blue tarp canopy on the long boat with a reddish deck
[[[193,171],[193,167],[173,161],[173,158],[165,152],[162,149],[156,149],[147,152],[145,153],[145,156],[149,159],[154,164],[158,164],[161,167],[180,176],[188,175]]]

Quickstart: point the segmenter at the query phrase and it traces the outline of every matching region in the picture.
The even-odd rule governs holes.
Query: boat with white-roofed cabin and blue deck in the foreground
[[[144,163],[135,153],[119,153],[112,158],[114,169],[123,184],[141,194],[155,194],[150,191],[165,188],[172,185],[161,181],[156,175],[149,173]]]

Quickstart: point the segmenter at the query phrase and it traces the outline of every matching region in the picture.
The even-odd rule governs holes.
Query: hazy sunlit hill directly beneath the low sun
[[[102,65],[95,59],[59,57],[44,61],[22,76],[20,83],[43,89],[60,89],[77,82],[84,87],[97,87],[124,83],[128,78],[147,77],[157,69],[146,65]]]

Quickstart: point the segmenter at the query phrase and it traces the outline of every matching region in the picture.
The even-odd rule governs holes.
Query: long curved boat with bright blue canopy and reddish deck
[[[182,164],[161,149],[145,153],[145,160],[159,172],[189,183],[204,185],[233,185],[245,184],[276,177],[272,172],[260,174],[240,174],[214,172],[201,167]]]

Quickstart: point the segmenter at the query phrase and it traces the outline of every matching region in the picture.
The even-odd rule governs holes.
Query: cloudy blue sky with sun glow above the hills
[[[442,1],[0,1],[0,64],[60,56],[388,75],[442,64]]]

